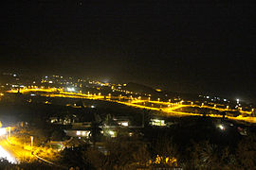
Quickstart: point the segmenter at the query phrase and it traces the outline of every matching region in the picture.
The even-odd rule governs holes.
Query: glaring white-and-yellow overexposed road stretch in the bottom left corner
[[[7,158],[8,161],[15,163],[31,160],[33,158],[30,151],[20,146],[9,144],[9,142],[4,139],[0,141],[0,157]]]

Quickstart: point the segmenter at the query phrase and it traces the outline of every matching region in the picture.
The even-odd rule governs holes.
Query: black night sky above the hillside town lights
[[[1,2],[0,70],[255,98],[255,3],[127,2]]]

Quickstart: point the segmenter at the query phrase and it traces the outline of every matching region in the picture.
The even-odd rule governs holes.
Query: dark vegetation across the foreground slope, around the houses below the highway
[[[58,103],[51,100],[52,103]],[[68,101],[71,103],[71,101]],[[78,102],[78,100],[76,101]],[[224,119],[208,117],[166,118],[173,122],[169,127],[150,127],[148,122],[156,112],[137,110],[119,104],[82,102],[83,108],[75,109],[65,105],[46,105],[38,103],[22,103],[14,105],[0,103],[3,125],[13,124],[18,117],[24,122],[12,131],[11,138],[20,144],[29,144],[30,136],[34,137],[36,154],[51,159],[66,168],[80,169],[150,169],[174,168],[183,169],[255,169],[256,137],[253,130],[248,136],[241,136],[237,127]],[[91,102],[91,101],[90,101]],[[96,108],[87,107],[98,104]],[[117,109],[118,108],[118,109]],[[188,109],[188,110],[187,110]],[[9,110],[8,113],[5,113]],[[184,108],[182,111],[191,111]],[[212,110],[199,110],[198,113],[220,114]],[[142,116],[143,114],[143,116]],[[75,116],[74,116],[75,115]],[[95,116],[98,115],[98,116]],[[140,126],[142,118],[144,128],[117,128],[117,138],[104,137],[99,134],[101,124],[112,125],[113,116],[131,115],[132,125]],[[50,116],[77,118],[91,122],[92,143],[70,146],[63,151],[56,151],[47,145],[49,141],[65,140],[64,125],[52,125],[47,122]],[[97,118],[95,118],[97,117]],[[16,121],[15,123],[17,123]],[[216,123],[217,122],[217,123]],[[26,124],[27,123],[27,124]],[[227,124],[227,131],[221,131],[217,124]],[[253,127],[252,127],[253,128]],[[131,133],[131,131],[133,133]],[[255,130],[254,130],[255,131]],[[132,134],[132,135],[131,135]],[[77,138],[78,139],[78,138]],[[54,158],[54,159],[53,159]],[[58,169],[42,162],[27,161],[21,164],[10,164],[0,161],[0,169]]]

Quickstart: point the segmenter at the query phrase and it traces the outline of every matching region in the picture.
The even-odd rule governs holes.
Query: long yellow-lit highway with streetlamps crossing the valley
[[[17,90],[11,90],[8,91],[8,93],[17,93]],[[177,109],[184,108],[184,107],[198,107],[198,108],[207,108],[210,110],[219,110],[219,111],[236,111],[236,110],[230,110],[229,106],[221,106],[224,108],[220,108],[218,104],[215,104],[213,107],[207,106],[207,105],[195,105],[195,104],[187,104],[184,105],[181,102],[180,103],[171,103],[171,102],[163,102],[163,101],[152,101],[152,100],[141,100],[141,98],[133,98],[132,96],[111,96],[110,95],[97,95],[97,94],[85,94],[85,93],[72,93],[72,92],[64,92],[64,89],[57,89],[57,88],[49,88],[49,89],[40,89],[40,88],[30,88],[30,89],[20,89],[20,93],[29,93],[29,92],[44,92],[45,95],[48,97],[66,97],[66,98],[85,98],[85,99],[92,99],[92,100],[104,100],[104,101],[110,101],[110,102],[116,102],[123,105],[141,108],[141,109],[147,109],[147,110],[161,110],[171,116],[186,116],[186,115],[200,115],[198,113],[194,112],[182,112],[182,111],[176,111]],[[138,99],[139,98],[139,99]],[[121,101],[125,100],[125,101]],[[151,106],[146,106],[146,103],[151,103]],[[256,123],[256,117],[250,117],[249,115],[252,113],[252,111],[245,111],[245,110],[239,110],[241,113],[247,114],[247,117],[243,117],[242,115],[239,115],[237,117],[230,117],[226,116],[229,119],[233,120],[239,120],[239,121],[246,121],[249,123]],[[214,114],[208,114],[211,117],[221,117],[221,115],[214,115]]]

